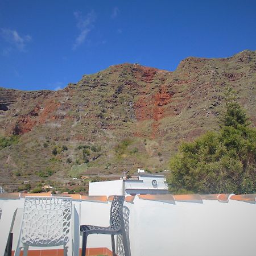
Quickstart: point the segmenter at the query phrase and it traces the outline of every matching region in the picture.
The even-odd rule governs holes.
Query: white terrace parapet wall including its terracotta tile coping
[[[77,227],[73,231],[79,239],[79,224],[109,225],[109,210],[113,196],[52,195],[50,192],[1,194],[1,256],[6,245],[6,236],[10,231],[13,212],[18,208],[20,212],[16,215],[13,227],[15,250],[26,196],[72,197],[77,214],[74,222]],[[255,255],[255,200],[255,194],[126,196],[124,205],[129,209],[131,255]],[[224,245],[221,241],[227,242]],[[89,236],[88,248],[91,252],[97,249],[102,252],[108,251],[106,255],[111,255],[110,237]],[[47,250],[48,253],[50,249],[52,248],[31,247],[31,250]],[[60,254],[59,250],[61,248],[53,248],[55,255]],[[42,251],[40,255],[43,255]],[[78,247],[73,255],[79,255]]]

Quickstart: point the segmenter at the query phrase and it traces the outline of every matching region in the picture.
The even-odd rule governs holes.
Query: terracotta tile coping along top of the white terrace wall
[[[72,197],[73,200],[80,201],[96,201],[107,203],[112,201],[114,196],[82,196],[79,194],[60,194],[52,195],[48,193],[4,193],[0,194],[0,199],[20,199],[26,196],[61,196],[61,197]],[[218,200],[220,203],[228,203],[229,200],[243,201],[246,203],[256,203],[256,194],[248,195],[234,195],[234,194],[212,194],[212,195],[137,195],[139,199],[152,200],[152,201],[166,201],[167,203],[180,201],[180,202],[193,202],[203,203],[203,200]],[[133,203],[135,196],[126,196],[125,201],[127,203]]]

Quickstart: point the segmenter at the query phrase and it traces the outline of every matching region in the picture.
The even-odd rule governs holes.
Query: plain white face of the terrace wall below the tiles
[[[22,200],[13,200],[13,207],[21,205],[18,201]],[[111,202],[77,201],[77,204],[81,205],[81,224],[109,225]],[[255,204],[235,200],[228,203],[218,200],[203,200],[203,203],[175,201],[171,204],[135,196],[133,204],[125,202],[125,205],[130,209],[133,256],[256,255]],[[6,220],[10,217],[10,214],[2,215],[1,230],[9,225]],[[18,229],[15,229],[13,248],[17,233]],[[110,236],[90,235],[88,247],[108,247],[111,250]]]

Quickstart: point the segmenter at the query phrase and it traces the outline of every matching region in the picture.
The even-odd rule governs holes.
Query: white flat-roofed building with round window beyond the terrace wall
[[[168,193],[164,175],[144,174],[130,179],[89,183],[89,196]]]

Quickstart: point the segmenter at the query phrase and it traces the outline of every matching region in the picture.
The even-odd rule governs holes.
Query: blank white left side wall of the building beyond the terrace
[[[89,183],[89,196],[123,195],[123,180],[111,180]]]

